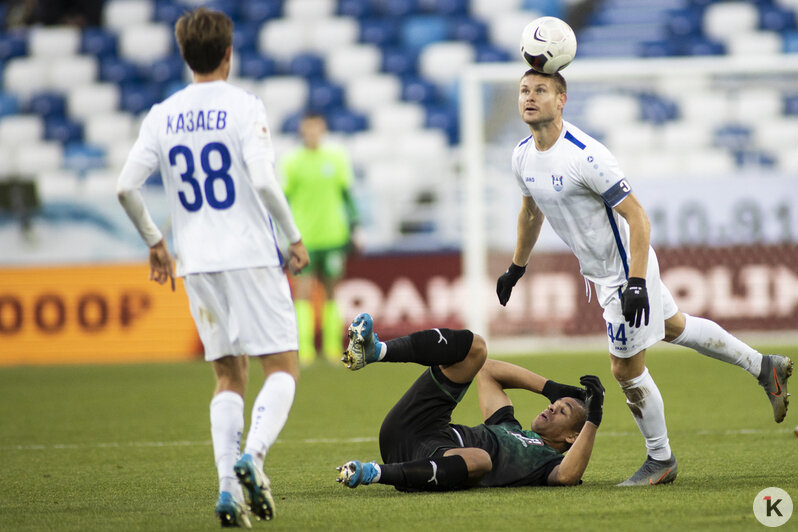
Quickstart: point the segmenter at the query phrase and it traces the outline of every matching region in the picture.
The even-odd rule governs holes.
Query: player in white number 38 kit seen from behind
[[[119,178],[125,211],[150,246],[150,278],[171,281],[172,258],[139,188],[160,168],[170,202],[177,275],[216,374],[210,404],[222,526],[249,527],[244,503],[261,519],[275,508],[263,461],[294,400],[296,317],[283,262],[293,273],[308,253],[274,171],[263,103],[227,83],[233,23],[199,8],[175,24],[194,83],[153,106]],[[274,220],[291,243],[279,251]],[[246,355],[265,382],[252,408],[244,454]]]

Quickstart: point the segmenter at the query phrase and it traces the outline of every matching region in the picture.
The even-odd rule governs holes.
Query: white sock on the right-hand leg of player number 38
[[[283,430],[288,412],[294,403],[295,392],[294,377],[285,371],[278,371],[269,375],[255,399],[252,425],[247,434],[244,452],[252,455],[259,468],[263,468],[266,453]]]

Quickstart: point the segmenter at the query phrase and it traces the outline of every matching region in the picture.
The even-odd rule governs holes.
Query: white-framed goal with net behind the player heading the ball
[[[529,350],[604,334],[604,322],[546,223],[507,307],[497,302],[521,205],[510,158],[529,135],[517,103],[524,71],[474,65],[461,78],[461,234],[466,325]],[[618,159],[679,307],[732,331],[798,330],[798,56],[577,57],[563,76],[565,120]]]

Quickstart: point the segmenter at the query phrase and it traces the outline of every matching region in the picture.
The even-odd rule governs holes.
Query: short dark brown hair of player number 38
[[[200,7],[183,14],[175,23],[180,55],[197,74],[219,68],[233,45],[233,21],[221,11]]]

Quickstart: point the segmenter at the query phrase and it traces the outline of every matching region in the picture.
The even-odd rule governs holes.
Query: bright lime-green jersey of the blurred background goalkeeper
[[[349,242],[349,213],[344,191],[352,185],[352,167],[342,147],[300,147],[281,161],[283,190],[302,241],[309,250]]]

